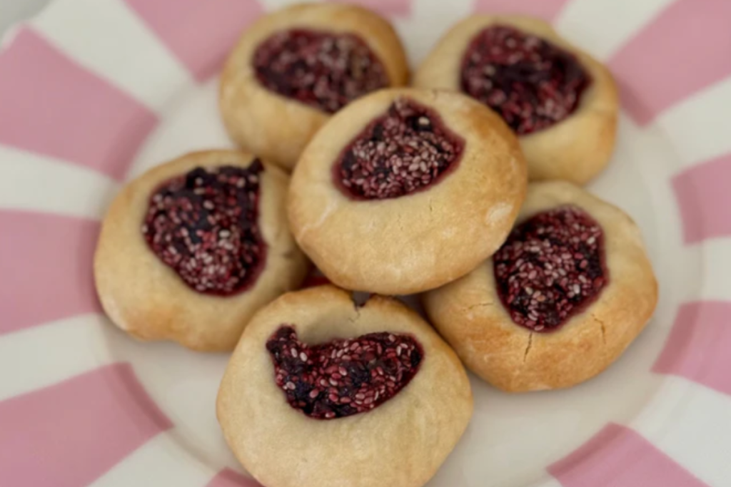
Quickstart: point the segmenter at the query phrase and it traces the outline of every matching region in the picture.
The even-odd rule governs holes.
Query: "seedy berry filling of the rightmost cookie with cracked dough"
[[[493,263],[498,294],[512,321],[533,331],[558,329],[591,304],[609,280],[602,227],[575,206],[521,223]]]

